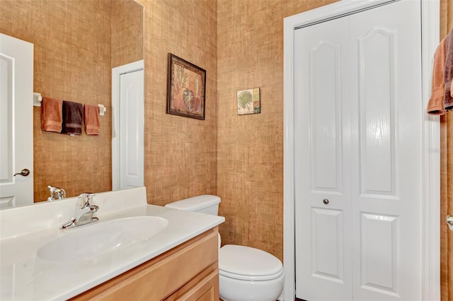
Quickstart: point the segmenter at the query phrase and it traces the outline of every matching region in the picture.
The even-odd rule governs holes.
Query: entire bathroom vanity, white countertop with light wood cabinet
[[[141,187],[97,194],[97,223],[59,229],[76,201],[0,211],[0,300],[219,300],[224,218],[149,205]]]

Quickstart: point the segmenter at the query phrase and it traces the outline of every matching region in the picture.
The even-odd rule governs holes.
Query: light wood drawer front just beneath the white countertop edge
[[[217,263],[217,244],[216,227],[73,300],[163,300]]]

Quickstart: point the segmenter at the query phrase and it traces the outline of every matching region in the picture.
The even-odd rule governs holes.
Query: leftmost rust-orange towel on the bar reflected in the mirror
[[[42,98],[41,102],[41,129],[42,131],[62,131],[62,104],[61,100]]]

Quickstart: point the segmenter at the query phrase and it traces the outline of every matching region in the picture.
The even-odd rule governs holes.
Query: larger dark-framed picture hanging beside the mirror
[[[206,70],[168,54],[167,114],[205,120]]]

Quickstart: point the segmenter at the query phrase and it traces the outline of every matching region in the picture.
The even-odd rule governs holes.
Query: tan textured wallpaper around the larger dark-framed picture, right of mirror
[[[217,1],[145,8],[144,181],[149,203],[217,194]],[[168,52],[207,71],[205,120],[166,114]]]

